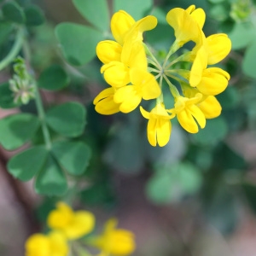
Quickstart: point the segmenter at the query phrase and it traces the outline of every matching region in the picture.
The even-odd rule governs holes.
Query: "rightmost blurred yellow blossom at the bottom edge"
[[[129,255],[135,250],[133,233],[128,230],[116,229],[116,225],[116,219],[109,219],[102,235],[91,241],[92,246],[102,250],[101,256]]]

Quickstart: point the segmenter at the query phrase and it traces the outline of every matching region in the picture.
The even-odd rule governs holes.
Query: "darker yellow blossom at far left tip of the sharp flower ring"
[[[93,101],[97,113],[113,114],[119,112],[120,104],[113,102],[115,89],[113,87],[102,90]]]

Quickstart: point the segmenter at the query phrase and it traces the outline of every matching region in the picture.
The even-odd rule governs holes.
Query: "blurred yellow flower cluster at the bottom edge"
[[[47,235],[38,233],[26,240],[26,256],[70,255],[72,241],[90,234],[95,226],[95,217],[87,211],[73,212],[66,203],[59,202],[56,209],[49,212],[47,224],[51,229]],[[108,220],[102,234],[90,237],[87,243],[84,240],[84,244],[100,249],[101,256],[131,254],[136,247],[134,235],[131,231],[116,229],[116,225],[115,219]],[[92,255],[85,251],[85,247],[79,247],[79,252],[83,250],[84,254]]]

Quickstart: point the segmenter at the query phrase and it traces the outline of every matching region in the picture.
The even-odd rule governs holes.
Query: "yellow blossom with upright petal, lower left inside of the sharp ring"
[[[140,104],[142,99],[151,100],[160,96],[160,86],[154,75],[133,68],[130,72],[131,84],[119,88],[113,96],[113,101],[119,103],[119,110],[129,113]]]

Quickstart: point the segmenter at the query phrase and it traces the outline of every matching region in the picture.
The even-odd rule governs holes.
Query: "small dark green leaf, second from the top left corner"
[[[24,12],[27,26],[40,26],[44,23],[44,13],[37,5],[29,5]]]

